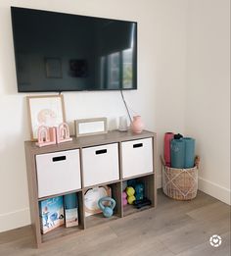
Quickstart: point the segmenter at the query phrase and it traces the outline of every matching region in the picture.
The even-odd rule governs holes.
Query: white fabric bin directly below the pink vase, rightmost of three
[[[153,172],[152,138],[122,142],[122,178]]]

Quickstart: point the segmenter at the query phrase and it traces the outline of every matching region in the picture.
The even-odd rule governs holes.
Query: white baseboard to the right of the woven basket
[[[230,202],[230,194],[231,190],[227,189],[226,187],[223,187],[221,185],[218,185],[216,183],[213,183],[209,181],[208,179],[203,179],[199,177],[199,189],[203,192],[217,198],[218,200],[231,205]]]

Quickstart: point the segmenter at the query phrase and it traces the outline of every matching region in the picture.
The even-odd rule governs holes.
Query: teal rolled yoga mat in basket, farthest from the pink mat
[[[184,137],[185,141],[185,162],[184,168],[193,168],[195,160],[195,139],[192,137]]]

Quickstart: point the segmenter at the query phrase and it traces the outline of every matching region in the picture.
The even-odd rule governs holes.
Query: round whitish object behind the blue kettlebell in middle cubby
[[[105,196],[112,196],[111,188],[107,185],[88,189],[84,195],[85,216],[101,213],[98,201]]]

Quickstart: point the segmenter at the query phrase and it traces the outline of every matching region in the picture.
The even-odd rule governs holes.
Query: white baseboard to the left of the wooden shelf
[[[0,232],[14,230],[30,224],[29,208],[0,214]]]

